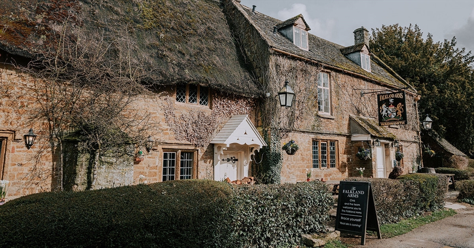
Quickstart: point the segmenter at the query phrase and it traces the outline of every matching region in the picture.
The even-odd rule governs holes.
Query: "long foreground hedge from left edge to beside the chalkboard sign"
[[[0,206],[5,247],[295,246],[333,201],[320,182],[233,187],[179,180],[41,193]]]

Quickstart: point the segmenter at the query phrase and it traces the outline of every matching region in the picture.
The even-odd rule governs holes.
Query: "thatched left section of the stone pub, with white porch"
[[[249,175],[250,155],[266,145],[255,128],[263,91],[242,59],[218,1],[4,1],[0,30],[0,171],[10,181],[8,199],[145,181],[242,179]],[[50,60],[54,54],[68,65],[69,71],[57,73],[61,76],[48,74],[58,72],[47,64],[56,62]],[[90,57],[101,64],[91,63]],[[132,77],[142,92],[114,92],[124,82],[133,83]],[[94,148],[99,142],[91,142],[87,132],[93,133],[100,123],[91,121],[103,116],[89,118],[76,130],[55,126],[60,120],[72,125],[93,107],[102,110],[81,102],[90,97],[81,91],[74,101],[86,105],[85,113],[68,118],[76,110],[57,99],[73,95],[53,99],[44,90],[72,94],[88,83],[91,88],[111,85],[105,91],[109,94],[94,101],[117,100],[113,95],[123,97],[120,104],[129,101],[121,106],[135,117],[135,126],[95,133],[115,133],[100,142],[116,142],[123,149],[99,154]],[[64,118],[51,114],[57,113],[51,106],[65,110]],[[106,101],[102,106],[114,109]],[[37,136],[27,148],[24,135],[30,128]]]

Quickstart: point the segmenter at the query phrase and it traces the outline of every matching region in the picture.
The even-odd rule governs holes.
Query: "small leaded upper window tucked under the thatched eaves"
[[[209,106],[209,88],[199,85],[177,85],[176,101]]]

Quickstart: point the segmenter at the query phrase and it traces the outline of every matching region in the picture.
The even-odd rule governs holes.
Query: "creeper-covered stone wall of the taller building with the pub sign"
[[[282,151],[282,182],[297,182],[306,179],[306,169],[312,169],[312,140],[330,140],[337,142],[336,168],[312,169],[312,178],[324,180],[340,180],[347,176],[358,176],[356,168],[365,167],[364,176],[376,177],[376,159],[362,161],[356,153],[362,143],[351,142],[349,114],[377,118],[376,93],[361,96],[360,89],[378,91],[387,89],[375,82],[354,77],[339,71],[329,70],[318,65],[305,63],[284,55],[274,54],[270,58],[272,72],[275,75],[289,75],[294,78],[291,85],[297,99],[293,107],[282,109],[279,112],[281,129],[293,127],[293,131],[286,134],[281,140],[281,146],[290,139],[297,141],[300,151],[295,155],[286,155]],[[319,72],[329,74],[331,88],[331,115],[319,114],[317,110],[317,77]],[[276,79],[273,74],[270,78]],[[412,171],[420,164],[420,143],[418,135],[418,114],[414,95],[406,93],[406,107],[408,124],[389,127],[388,130],[400,142],[404,158],[401,166],[405,173]],[[395,160],[395,148],[391,139],[384,143],[386,176],[392,169]],[[370,142],[369,142],[370,143]],[[365,148],[369,144],[365,143]],[[372,151],[375,157],[375,151]]]

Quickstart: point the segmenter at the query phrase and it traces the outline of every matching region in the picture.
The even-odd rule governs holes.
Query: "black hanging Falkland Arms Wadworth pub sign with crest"
[[[405,92],[377,95],[379,126],[406,125]]]

